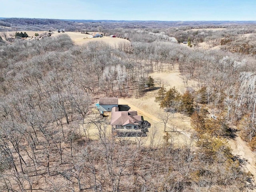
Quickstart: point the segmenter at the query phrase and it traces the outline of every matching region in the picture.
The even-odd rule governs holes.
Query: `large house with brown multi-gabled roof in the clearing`
[[[143,117],[136,111],[119,111],[118,107],[112,108],[110,125],[113,129],[140,129]]]

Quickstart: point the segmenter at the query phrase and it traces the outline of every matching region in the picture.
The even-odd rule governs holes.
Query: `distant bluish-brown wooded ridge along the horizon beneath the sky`
[[[136,21],[136,20],[72,20],[72,19],[42,19],[42,18],[0,18],[0,26],[5,31],[16,30],[57,30],[65,29],[66,31],[97,31],[99,28],[114,29],[162,29],[170,27],[183,27],[186,29],[194,28],[229,28],[243,24],[256,24],[256,21]]]

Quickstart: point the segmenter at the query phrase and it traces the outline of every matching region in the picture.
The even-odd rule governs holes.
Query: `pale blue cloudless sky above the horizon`
[[[256,0],[0,0],[0,17],[84,20],[256,20]]]

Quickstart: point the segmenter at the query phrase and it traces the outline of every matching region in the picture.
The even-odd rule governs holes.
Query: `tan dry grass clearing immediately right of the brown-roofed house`
[[[127,104],[130,106],[130,110],[135,110],[139,115],[142,115],[144,120],[150,122],[151,127],[148,128],[147,137],[142,137],[141,140],[146,146],[150,146],[163,143],[163,136],[166,135],[164,132],[164,123],[160,119],[163,110],[159,108],[158,103],[154,102],[154,98],[119,98],[119,104]],[[166,126],[166,131],[176,130],[178,132],[169,132],[172,134],[174,144],[181,145],[185,144],[191,135],[190,130],[190,119],[182,116],[181,114],[174,114],[174,118],[171,115]],[[173,129],[173,126],[175,127]],[[136,138],[129,138],[135,140]]]

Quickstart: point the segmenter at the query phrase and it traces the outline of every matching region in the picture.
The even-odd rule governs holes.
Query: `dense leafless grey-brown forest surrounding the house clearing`
[[[104,35],[130,40],[118,48],[102,42],[78,46],[66,34],[14,42],[0,34],[0,191],[255,189],[245,160],[226,142],[241,136],[256,150],[255,24],[187,31],[194,27],[102,28]],[[178,44],[188,38],[192,48]],[[196,48],[200,42],[225,47],[203,50]],[[176,94],[159,84],[156,101],[166,114],[191,117],[194,132],[186,144],[174,144],[168,132],[146,146],[140,136],[131,142],[107,131],[108,119],[94,110],[98,98],[142,97],[153,90],[145,87],[150,73],[174,66],[184,85],[196,80],[198,90]],[[207,117],[210,110],[217,120]],[[98,129],[96,139],[88,135],[91,127]]]

